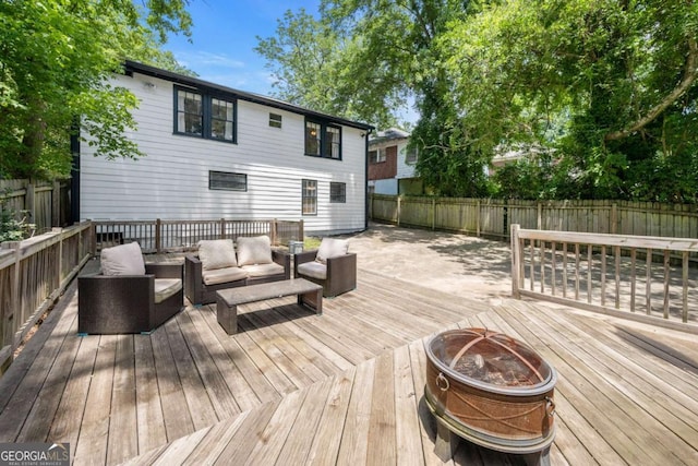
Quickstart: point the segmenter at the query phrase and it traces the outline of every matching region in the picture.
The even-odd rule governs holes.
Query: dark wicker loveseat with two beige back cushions
[[[216,301],[216,291],[291,278],[291,254],[273,249],[269,238],[200,241],[184,258],[184,295],[194,306]]]

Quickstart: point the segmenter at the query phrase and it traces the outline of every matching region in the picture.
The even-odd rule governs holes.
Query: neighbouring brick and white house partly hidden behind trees
[[[414,174],[418,153],[408,151],[410,133],[397,128],[378,131],[369,140],[369,191],[376,194],[422,194]]]

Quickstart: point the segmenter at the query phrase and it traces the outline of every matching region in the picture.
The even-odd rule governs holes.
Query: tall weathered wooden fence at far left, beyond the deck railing
[[[38,234],[71,222],[70,180],[33,183],[29,180],[0,180],[0,203],[17,219],[36,225]]]

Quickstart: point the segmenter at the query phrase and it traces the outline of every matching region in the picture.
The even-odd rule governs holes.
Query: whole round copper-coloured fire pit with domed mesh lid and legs
[[[424,397],[438,421],[440,456],[453,452],[453,432],[481,446],[547,462],[557,377],[533,349],[486,328],[443,332],[425,349]]]

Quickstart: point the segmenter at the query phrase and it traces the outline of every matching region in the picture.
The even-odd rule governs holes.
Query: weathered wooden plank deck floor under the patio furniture
[[[442,464],[422,399],[423,342],[486,326],[558,373],[554,465],[698,464],[698,344],[571,309],[490,307],[360,271],[323,315],[212,306],[151,335],[80,337],[73,284],[0,379],[0,441],[70,442],[75,464]],[[460,442],[455,464],[520,464]]]

